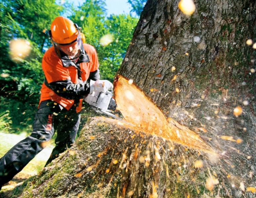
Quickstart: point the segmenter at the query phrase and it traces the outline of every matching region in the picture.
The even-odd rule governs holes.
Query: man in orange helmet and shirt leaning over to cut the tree
[[[0,159],[0,186],[9,182],[39,153],[57,131],[56,147],[46,165],[70,148],[80,124],[82,100],[89,93],[106,92],[113,85],[100,79],[96,50],[83,44],[84,35],[68,18],[58,16],[49,36],[53,47],[42,59],[45,80],[30,136]]]

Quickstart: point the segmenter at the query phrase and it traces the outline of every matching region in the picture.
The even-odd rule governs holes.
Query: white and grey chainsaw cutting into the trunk
[[[105,114],[107,116],[122,120],[120,117],[113,114],[113,111],[116,109],[116,103],[112,96],[113,94],[110,91],[107,91],[106,93],[93,91],[85,98],[85,102],[87,102],[93,110],[100,114]]]

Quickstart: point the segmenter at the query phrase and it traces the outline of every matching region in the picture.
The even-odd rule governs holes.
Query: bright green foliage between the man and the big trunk
[[[106,19],[105,6],[104,0],[86,0],[70,19],[82,28],[86,43],[96,48],[101,79],[113,81],[132,40],[138,19],[130,15],[111,15]],[[112,35],[113,42],[102,46],[100,39],[107,34]]]

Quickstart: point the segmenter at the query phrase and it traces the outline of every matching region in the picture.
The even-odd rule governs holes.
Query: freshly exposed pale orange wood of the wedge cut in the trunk
[[[124,120],[137,130],[205,152],[215,153],[198,134],[175,120],[164,116],[161,110],[134,83],[118,75],[114,80],[117,109]],[[129,127],[131,127],[130,125]]]

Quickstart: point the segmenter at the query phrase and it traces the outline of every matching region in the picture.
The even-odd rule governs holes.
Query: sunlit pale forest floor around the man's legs
[[[0,157],[2,157],[15,144],[26,137],[26,134],[16,135],[0,132]],[[49,145],[42,150],[24,169],[18,173],[10,182],[4,184],[0,191],[1,198],[16,198],[21,195],[27,182],[33,179],[44,167],[49,158],[53,145]]]

